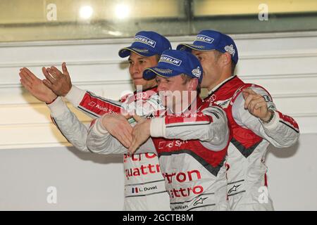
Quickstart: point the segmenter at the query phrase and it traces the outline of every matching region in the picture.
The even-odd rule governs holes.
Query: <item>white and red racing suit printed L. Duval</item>
[[[135,94],[125,96],[120,101],[111,101],[73,86],[66,98],[75,108],[92,118],[106,113],[120,113],[122,108],[127,111],[137,110],[137,115],[144,116],[162,107],[157,98],[154,98],[154,94],[156,94],[156,88],[136,91]],[[51,118],[63,136],[78,150],[88,152],[86,146],[88,129],[68,109],[66,103],[58,97],[56,101],[49,104],[49,108]],[[125,154],[123,166],[125,170],[124,210],[170,210],[159,159],[154,153]]]

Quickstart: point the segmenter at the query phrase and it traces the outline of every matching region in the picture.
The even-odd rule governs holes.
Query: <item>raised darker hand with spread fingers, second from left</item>
[[[43,82],[57,96],[65,97],[72,87],[72,82],[70,81],[66,63],[62,64],[62,70],[63,72],[59,71],[54,66],[51,66],[51,68],[42,68],[42,72],[46,77]]]

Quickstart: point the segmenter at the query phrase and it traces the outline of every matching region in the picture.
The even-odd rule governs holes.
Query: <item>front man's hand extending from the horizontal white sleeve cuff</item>
[[[134,115],[133,118],[137,121],[137,124],[133,127],[132,131],[132,143],[129,148],[130,153],[135,153],[137,148],[150,137],[151,120],[144,119],[138,115]]]

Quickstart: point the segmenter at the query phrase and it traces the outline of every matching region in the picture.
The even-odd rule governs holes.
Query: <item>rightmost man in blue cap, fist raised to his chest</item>
[[[233,75],[238,60],[235,42],[214,30],[199,32],[193,44],[180,44],[204,69],[201,87],[209,90],[205,101],[225,110],[232,131],[228,148],[228,198],[231,210],[273,210],[264,164],[271,143],[278,148],[294,145],[299,127],[292,117],[277,110],[271,95],[256,84]]]

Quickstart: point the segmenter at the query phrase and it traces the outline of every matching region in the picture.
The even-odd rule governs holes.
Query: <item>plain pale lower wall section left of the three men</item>
[[[122,210],[122,162],[73,147],[1,150],[0,210]],[[50,186],[56,204],[46,200]]]

